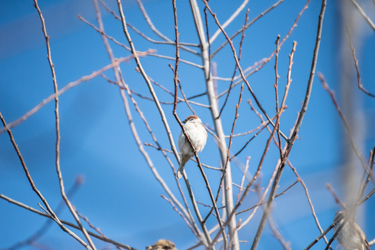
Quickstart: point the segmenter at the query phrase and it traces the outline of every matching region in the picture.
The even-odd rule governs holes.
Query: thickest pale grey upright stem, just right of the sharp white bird
[[[206,81],[206,88],[207,88],[207,97],[209,99],[209,105],[211,110],[212,119],[214,121],[214,126],[216,130],[216,134],[220,141],[218,141],[218,149],[221,156],[221,163],[224,166],[225,160],[227,158],[227,147],[225,142],[225,134],[223,131],[223,124],[221,122],[221,118],[218,117],[218,103],[216,101],[216,94],[214,90],[214,83],[212,81],[212,75],[210,74],[209,68],[209,53],[208,53],[208,43],[205,38],[205,31],[202,24],[202,18],[200,17],[200,10],[198,8],[198,4],[196,0],[190,0],[191,11],[193,13],[194,23],[196,25],[196,31],[198,34],[198,38],[200,41],[200,49],[202,55],[202,62],[203,62],[203,71],[205,74],[205,81]],[[224,192],[225,192],[225,209],[228,215],[232,213],[233,210],[233,191],[232,191],[232,170],[230,168],[230,163],[227,166],[227,172],[224,178]],[[233,250],[239,249],[239,240],[237,235],[237,223],[235,215],[232,215],[229,219],[228,229],[229,229],[229,237],[232,240],[232,247]]]

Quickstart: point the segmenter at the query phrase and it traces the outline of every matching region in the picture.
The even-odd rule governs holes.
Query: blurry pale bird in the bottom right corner
[[[337,211],[333,222],[337,222],[337,225],[333,228],[333,231],[338,230],[342,223],[345,221],[345,217],[348,216],[345,211]],[[369,249],[369,242],[367,242],[366,235],[360,229],[360,226],[353,222],[350,217],[347,219],[346,224],[341,228],[337,234],[337,241],[344,247],[345,250],[365,250]]]

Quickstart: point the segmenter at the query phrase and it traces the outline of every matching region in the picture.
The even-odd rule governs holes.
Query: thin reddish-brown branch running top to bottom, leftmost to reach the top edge
[[[51,67],[51,73],[52,73],[52,79],[54,81],[54,92],[55,92],[55,115],[56,115],[56,172],[58,175],[58,181],[60,184],[60,190],[61,190],[61,196],[63,197],[65,203],[67,204],[67,207],[70,210],[70,213],[72,213],[74,219],[76,220],[77,224],[79,225],[79,228],[81,228],[81,231],[83,235],[85,235],[86,240],[88,240],[88,244],[90,244],[90,247],[92,247],[94,250],[95,245],[93,241],[91,240],[90,236],[88,235],[86,229],[82,226],[81,220],[79,219],[76,211],[74,210],[72,203],[70,203],[69,199],[67,198],[67,195],[65,194],[65,188],[64,188],[64,181],[63,181],[63,175],[61,173],[61,167],[60,167],[60,115],[58,113],[58,87],[57,87],[57,81],[56,81],[56,74],[54,69],[54,63],[52,63],[51,59],[51,49],[49,47],[49,35],[47,35],[47,30],[45,27],[45,19],[42,16],[42,12],[40,11],[40,8],[38,6],[38,1],[34,0],[34,6],[36,10],[38,10],[40,21],[42,22],[42,31],[45,35],[45,41],[47,45],[47,58],[49,62],[49,66]]]

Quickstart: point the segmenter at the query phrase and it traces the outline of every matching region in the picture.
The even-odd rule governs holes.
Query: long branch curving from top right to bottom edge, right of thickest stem
[[[303,100],[303,105],[302,105],[301,111],[298,114],[298,117],[297,117],[297,120],[296,120],[296,125],[294,126],[294,129],[292,131],[292,134],[291,134],[289,140],[287,140],[287,147],[286,147],[286,149],[283,153],[282,160],[280,161],[280,165],[279,165],[279,168],[278,168],[278,172],[276,174],[276,178],[273,181],[271,192],[269,194],[269,199],[268,199],[267,205],[266,205],[266,210],[264,210],[264,213],[262,215],[262,219],[261,219],[260,224],[258,226],[257,233],[255,234],[254,241],[253,241],[253,244],[251,246],[251,250],[257,249],[257,245],[260,241],[262,231],[263,231],[264,226],[266,224],[266,219],[268,217],[269,209],[271,208],[272,203],[273,203],[273,199],[275,199],[275,196],[276,196],[276,190],[278,189],[278,183],[280,182],[282,170],[285,167],[285,162],[286,162],[286,160],[289,156],[289,153],[292,149],[294,141],[297,138],[299,128],[301,127],[301,124],[302,124],[303,116],[305,115],[305,112],[308,109],[308,103],[310,101],[310,94],[311,94],[311,90],[312,90],[312,82],[314,81],[315,68],[317,67],[317,58],[318,58],[319,45],[320,45],[320,40],[321,40],[321,29],[322,29],[322,26],[323,26],[323,19],[324,19],[324,12],[326,11],[326,5],[327,5],[327,1],[322,0],[321,1],[321,10],[320,10],[320,13],[319,13],[318,27],[317,27],[317,37],[316,37],[316,40],[315,40],[314,52],[313,52],[313,55],[312,55],[310,76],[309,76],[309,80],[308,80],[308,86],[307,86],[307,89],[306,89],[305,99]],[[284,100],[283,100],[283,103],[284,103]],[[282,103],[282,105],[283,105],[283,103]],[[281,108],[281,110],[282,110],[282,108]]]

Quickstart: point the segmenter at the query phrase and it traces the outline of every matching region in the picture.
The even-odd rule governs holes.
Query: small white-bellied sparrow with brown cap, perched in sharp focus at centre
[[[191,115],[187,117],[184,122],[184,130],[191,140],[196,152],[202,151],[207,142],[207,131],[206,128],[202,125],[202,121],[196,115]],[[181,154],[181,161],[179,163],[179,168],[177,170],[177,178],[182,177],[184,172],[185,164],[188,160],[194,156],[194,151],[191,148],[189,140],[185,137],[184,131],[181,131],[178,138],[178,148],[179,153]]]

